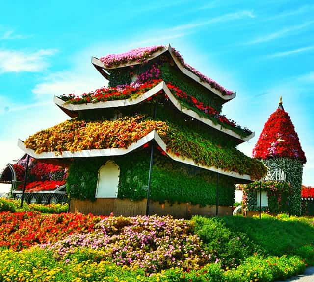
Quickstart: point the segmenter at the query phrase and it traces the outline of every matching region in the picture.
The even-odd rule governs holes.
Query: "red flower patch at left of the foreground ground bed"
[[[21,250],[77,232],[91,232],[102,218],[81,213],[0,212],[0,248]]]

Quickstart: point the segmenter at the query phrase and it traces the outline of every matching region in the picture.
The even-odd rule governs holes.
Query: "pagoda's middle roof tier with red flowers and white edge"
[[[233,120],[220,115],[215,109],[184,93],[178,87],[160,80],[137,85],[133,88],[130,86],[118,90],[117,88],[103,88],[89,94],[83,94],[82,97],[55,96],[54,102],[68,116],[74,118],[80,112],[134,106],[149,101],[156,95],[163,95],[172,103],[174,108],[184,115],[235,138],[237,143],[250,140],[255,135],[254,132],[240,128]]]

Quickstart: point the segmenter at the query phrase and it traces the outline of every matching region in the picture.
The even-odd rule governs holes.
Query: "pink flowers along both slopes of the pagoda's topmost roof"
[[[152,58],[152,55],[160,51],[162,49],[166,49],[163,45],[157,45],[157,46],[150,46],[150,47],[142,47],[142,48],[136,48],[132,49],[128,52],[121,53],[121,54],[110,54],[105,57],[101,57],[100,60],[103,62],[105,67],[107,68],[113,68],[118,67],[121,64],[126,64],[130,62],[136,62],[136,63],[142,63],[147,61],[149,58]],[[177,57],[177,59],[180,61],[180,63],[183,65],[183,67],[195,75],[197,75],[201,81],[205,81],[209,83],[209,85],[216,90],[220,91],[223,95],[232,95],[234,94],[234,91],[227,90],[211,78],[207,77],[206,75],[202,74],[200,71],[197,71],[195,68],[190,66],[189,64],[185,63],[182,55],[175,49],[171,48],[173,54]]]

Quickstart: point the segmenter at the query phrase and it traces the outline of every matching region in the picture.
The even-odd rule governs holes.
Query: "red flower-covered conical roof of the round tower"
[[[271,114],[253,149],[253,157],[258,159],[282,157],[306,163],[298,134],[287,112],[277,109]]]

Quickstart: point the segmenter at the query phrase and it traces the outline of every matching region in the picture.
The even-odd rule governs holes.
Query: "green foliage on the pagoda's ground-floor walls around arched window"
[[[141,200],[147,196],[150,150],[143,149],[112,160],[120,167],[118,198]],[[99,168],[109,158],[75,160],[69,169],[67,190],[72,198],[95,200]],[[163,203],[216,204],[215,173],[180,164],[162,156],[154,155],[150,197]],[[234,203],[235,186],[233,180],[220,175],[219,205]]]

